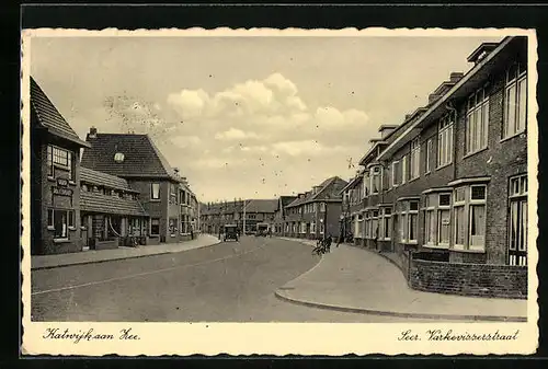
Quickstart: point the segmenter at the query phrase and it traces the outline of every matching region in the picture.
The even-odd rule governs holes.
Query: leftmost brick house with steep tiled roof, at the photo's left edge
[[[82,141],[31,78],[31,254],[79,252]]]

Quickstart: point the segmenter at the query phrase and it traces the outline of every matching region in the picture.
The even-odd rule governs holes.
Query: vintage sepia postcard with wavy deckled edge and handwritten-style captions
[[[24,355],[532,354],[534,30],[23,30]]]

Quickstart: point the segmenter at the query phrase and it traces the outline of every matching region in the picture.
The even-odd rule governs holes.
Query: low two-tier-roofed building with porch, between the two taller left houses
[[[84,250],[147,244],[149,216],[126,180],[80,168],[81,238]]]

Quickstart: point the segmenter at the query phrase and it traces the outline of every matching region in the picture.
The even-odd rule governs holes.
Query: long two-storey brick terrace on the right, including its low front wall
[[[525,298],[527,38],[468,61],[361,161],[355,242],[395,252],[415,289]]]

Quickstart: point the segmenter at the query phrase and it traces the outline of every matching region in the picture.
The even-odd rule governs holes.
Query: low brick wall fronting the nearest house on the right
[[[411,260],[409,286],[429,292],[527,298],[527,267]]]

